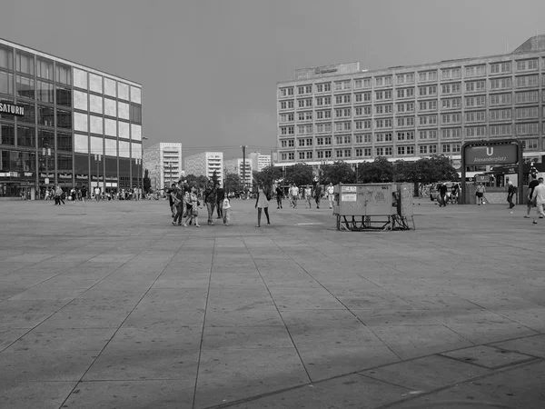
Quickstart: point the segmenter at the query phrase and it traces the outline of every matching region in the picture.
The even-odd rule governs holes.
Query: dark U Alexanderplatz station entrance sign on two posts
[[[519,203],[524,202],[522,189],[523,163],[522,144],[515,139],[500,139],[497,141],[467,142],[461,147],[461,200],[465,205],[465,175],[466,166],[478,165],[518,165]]]

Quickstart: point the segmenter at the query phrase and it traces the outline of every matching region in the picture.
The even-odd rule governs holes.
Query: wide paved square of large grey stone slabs
[[[163,201],[0,202],[0,407],[410,407],[510,365],[542,379],[545,222],[525,207],[417,200],[416,231],[352,233],[327,208],[257,228],[253,204],[199,229]],[[485,344],[534,359],[438,355]]]

